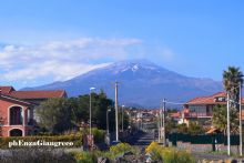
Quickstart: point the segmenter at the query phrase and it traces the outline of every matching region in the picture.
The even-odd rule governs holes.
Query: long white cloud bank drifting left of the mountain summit
[[[139,39],[81,38],[37,45],[6,45],[0,48],[1,78],[21,82],[45,77],[68,80],[106,65],[95,61],[128,58],[128,48],[141,42]]]

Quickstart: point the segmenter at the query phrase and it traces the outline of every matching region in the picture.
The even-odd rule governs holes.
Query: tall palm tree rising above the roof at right
[[[238,102],[240,82],[243,83],[243,73],[240,68],[228,67],[227,70],[223,72],[223,84],[225,91],[228,92],[230,99],[236,103]],[[231,102],[231,109],[235,108],[236,103]]]

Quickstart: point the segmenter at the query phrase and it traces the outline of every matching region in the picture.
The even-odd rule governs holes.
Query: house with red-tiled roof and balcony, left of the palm
[[[187,112],[184,112],[182,118],[186,123],[189,121],[197,121],[207,128],[212,125],[213,108],[217,104],[226,105],[226,103],[225,92],[218,92],[209,96],[199,96],[184,104],[184,110],[187,110]],[[244,103],[244,99],[242,99],[242,103]]]

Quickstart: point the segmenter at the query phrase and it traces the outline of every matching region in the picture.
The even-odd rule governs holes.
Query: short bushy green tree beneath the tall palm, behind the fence
[[[227,109],[226,105],[215,105],[213,108],[213,125],[226,134],[227,130]],[[238,130],[238,120],[236,110],[230,110],[231,132],[236,133]]]

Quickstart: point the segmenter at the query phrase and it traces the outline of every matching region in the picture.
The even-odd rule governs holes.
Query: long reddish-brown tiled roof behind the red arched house
[[[53,90],[53,91],[13,91],[10,93],[11,96],[18,99],[51,99],[51,98],[64,98],[65,91]]]

